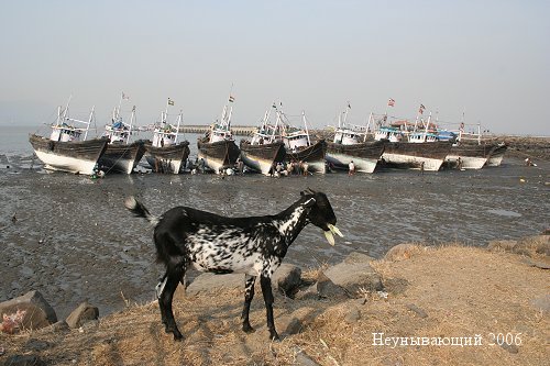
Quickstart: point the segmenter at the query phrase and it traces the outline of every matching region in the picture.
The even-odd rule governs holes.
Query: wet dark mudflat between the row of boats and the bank
[[[549,164],[525,167],[518,158],[477,171],[424,175],[114,175],[96,181],[29,169],[29,156],[0,164],[0,241],[8,259],[0,269],[0,301],[36,289],[59,318],[85,299],[102,315],[123,308],[124,299],[153,299],[163,268],[154,263],[151,228],[123,208],[130,195],[155,214],[185,204],[243,217],[276,213],[307,187],[324,191],[345,237],[331,247],[319,229],[307,226],[285,259],[301,267],[337,263],[353,251],[380,257],[405,242],[481,246],[550,224]]]

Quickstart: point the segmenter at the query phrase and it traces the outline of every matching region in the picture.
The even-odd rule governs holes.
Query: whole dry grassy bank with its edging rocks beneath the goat
[[[174,300],[184,334],[164,333],[155,302],[66,320],[36,291],[0,304],[0,365],[542,365],[550,344],[550,235],[486,248],[400,244],[273,278],[270,342],[260,286],[255,333],[241,331],[243,276],[201,274]],[[182,286],[180,286],[182,288]]]

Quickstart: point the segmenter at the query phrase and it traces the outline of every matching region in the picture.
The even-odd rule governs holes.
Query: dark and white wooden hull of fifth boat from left
[[[241,141],[241,159],[248,167],[263,175],[268,176],[273,165],[284,162],[285,156],[283,142],[251,145],[248,141]]]

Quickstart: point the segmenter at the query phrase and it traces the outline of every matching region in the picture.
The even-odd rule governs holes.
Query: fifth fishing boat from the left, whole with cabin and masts
[[[285,160],[285,144],[280,138],[280,129],[277,124],[270,122],[272,109],[268,109],[260,127],[254,131],[252,140],[241,140],[241,159],[251,169],[271,175],[277,163]]]

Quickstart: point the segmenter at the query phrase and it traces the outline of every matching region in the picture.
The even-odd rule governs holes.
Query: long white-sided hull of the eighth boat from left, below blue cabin
[[[451,142],[385,142],[383,164],[388,167],[438,171],[451,151]]]

